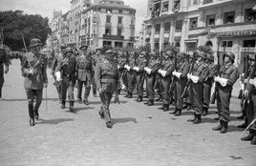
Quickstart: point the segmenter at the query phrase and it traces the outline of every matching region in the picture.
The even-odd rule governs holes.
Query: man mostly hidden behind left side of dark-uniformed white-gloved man
[[[65,52],[65,49],[66,49],[66,46],[61,45],[60,46],[60,53],[54,54],[53,62],[52,62],[52,67],[51,67],[51,69],[52,69],[51,77],[52,78],[56,77],[55,69],[56,69],[56,66],[57,66],[58,62],[61,59],[63,59],[63,53]],[[61,84],[60,83],[54,83],[54,85],[56,86],[56,90],[57,90],[57,93],[58,93],[58,99],[61,102]]]

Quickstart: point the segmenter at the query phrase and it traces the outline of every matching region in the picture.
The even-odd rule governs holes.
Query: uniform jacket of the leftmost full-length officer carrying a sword
[[[43,83],[48,83],[47,79],[47,59],[42,53],[27,52],[22,60],[21,71],[25,76],[25,89],[42,90]],[[34,73],[31,74],[30,71]]]

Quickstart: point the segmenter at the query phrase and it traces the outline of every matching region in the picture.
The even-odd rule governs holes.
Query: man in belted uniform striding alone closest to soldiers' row
[[[101,100],[101,108],[99,115],[101,118],[105,118],[107,128],[112,128],[111,115],[109,105],[113,93],[117,93],[117,87],[119,86],[119,75],[117,70],[117,64],[114,63],[114,52],[108,50],[105,54],[102,54],[102,58],[96,63],[96,88]]]

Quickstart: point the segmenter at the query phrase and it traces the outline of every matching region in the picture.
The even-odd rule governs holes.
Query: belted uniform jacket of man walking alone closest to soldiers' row
[[[117,64],[106,59],[101,59],[96,63],[96,88],[103,93],[115,93],[119,86],[119,73]]]

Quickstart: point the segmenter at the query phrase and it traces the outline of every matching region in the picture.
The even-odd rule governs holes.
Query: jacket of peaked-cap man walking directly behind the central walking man
[[[80,54],[76,56],[77,79],[80,81],[91,80],[92,59]]]

